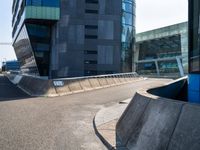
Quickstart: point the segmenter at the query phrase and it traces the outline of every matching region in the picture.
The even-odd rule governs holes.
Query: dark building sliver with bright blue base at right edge
[[[190,102],[200,103],[200,1],[189,0],[189,88]]]

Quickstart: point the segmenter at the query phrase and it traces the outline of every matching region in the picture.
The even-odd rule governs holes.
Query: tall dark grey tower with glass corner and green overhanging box
[[[25,73],[49,78],[132,71],[135,0],[13,0]]]

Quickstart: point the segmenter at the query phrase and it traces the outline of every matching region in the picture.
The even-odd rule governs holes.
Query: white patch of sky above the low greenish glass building
[[[136,0],[136,32],[188,20],[188,0]]]

